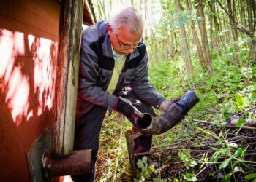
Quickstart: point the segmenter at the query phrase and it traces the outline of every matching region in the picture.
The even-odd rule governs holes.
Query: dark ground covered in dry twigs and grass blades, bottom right
[[[256,130],[238,132],[238,129],[222,130],[223,127],[207,124],[200,124],[200,128],[211,132],[197,132],[186,141],[151,149],[148,163],[157,162],[159,168],[146,181],[153,178],[187,181],[183,176],[187,173],[195,174],[196,181],[223,181],[224,178],[246,181],[246,175],[256,173]],[[179,153],[185,154],[183,160]],[[132,178],[124,175],[122,181],[132,181]]]

